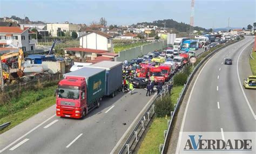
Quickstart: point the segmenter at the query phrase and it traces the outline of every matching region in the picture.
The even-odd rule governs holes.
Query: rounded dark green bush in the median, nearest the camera
[[[171,97],[170,95],[166,95],[163,97],[163,99],[159,99],[156,102],[156,116],[157,117],[165,117],[165,115],[170,116],[171,111],[173,111],[173,105],[171,103]]]

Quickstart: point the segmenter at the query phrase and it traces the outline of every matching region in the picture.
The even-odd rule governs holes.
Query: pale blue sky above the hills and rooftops
[[[247,27],[256,22],[255,0],[194,0],[194,26],[204,28]],[[153,20],[173,19],[190,23],[191,0],[170,1],[82,1],[82,0],[0,0],[0,17],[12,15],[46,23],[74,24],[98,22],[131,25]]]

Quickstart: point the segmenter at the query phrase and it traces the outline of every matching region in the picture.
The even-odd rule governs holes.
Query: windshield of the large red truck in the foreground
[[[58,97],[63,99],[78,100],[80,88],[78,86],[58,86]]]

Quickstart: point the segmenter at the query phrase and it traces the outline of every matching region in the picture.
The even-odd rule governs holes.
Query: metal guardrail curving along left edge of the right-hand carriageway
[[[241,40],[241,39],[240,39]],[[185,96],[185,93],[186,93],[186,90],[188,88],[188,85],[190,85],[190,82],[191,80],[193,79],[193,76],[194,74],[196,74],[197,70],[199,69],[199,67],[205,62],[206,59],[210,58],[214,53],[220,51],[221,49],[227,47],[228,45],[231,45],[231,44],[234,44],[234,43],[237,43],[239,40],[235,40],[235,41],[232,41],[230,43],[227,43],[223,46],[220,46],[219,48],[215,49],[214,51],[212,51],[211,53],[209,53],[208,55],[206,55],[206,57],[201,60],[199,62],[199,64],[197,64],[196,67],[194,67],[193,69],[193,72],[188,76],[188,79],[187,79],[187,82],[186,84],[184,85],[183,89],[181,90],[181,93],[179,94],[179,98],[177,99],[177,104],[176,106],[174,107],[174,111],[173,111],[173,114],[171,116],[171,121],[170,123],[168,123],[168,130],[167,130],[167,134],[165,135],[165,141],[164,141],[164,144],[160,144],[159,146],[159,151],[161,154],[163,153],[166,153],[167,152],[167,149],[168,149],[168,146],[169,146],[169,141],[170,141],[170,138],[171,138],[171,134],[172,134],[172,131],[173,131],[173,128],[174,128],[174,118],[173,117],[176,117],[177,114],[178,114],[178,110],[179,110],[179,107],[181,105],[181,102]],[[203,52],[204,53],[204,52]],[[201,55],[203,53],[200,53],[198,56],[201,57]]]

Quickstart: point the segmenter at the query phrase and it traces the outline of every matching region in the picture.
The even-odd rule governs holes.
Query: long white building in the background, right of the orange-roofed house
[[[52,37],[57,37],[58,32],[71,35],[72,32],[78,32],[78,25],[75,24],[46,24],[46,29],[51,33]]]

